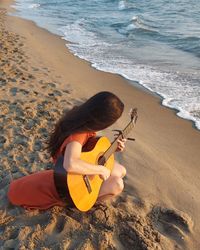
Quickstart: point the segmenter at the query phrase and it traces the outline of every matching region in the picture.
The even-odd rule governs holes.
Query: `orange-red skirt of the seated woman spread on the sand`
[[[56,191],[53,170],[44,170],[12,181],[8,199],[13,205],[26,209],[46,210],[53,206],[66,206]]]

